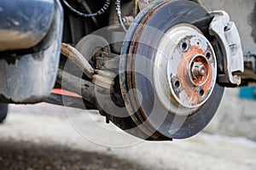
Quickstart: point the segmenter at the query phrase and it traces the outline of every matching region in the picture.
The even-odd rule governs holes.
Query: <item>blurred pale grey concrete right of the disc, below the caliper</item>
[[[212,122],[205,132],[256,141],[256,101],[239,99],[239,88],[226,88]]]

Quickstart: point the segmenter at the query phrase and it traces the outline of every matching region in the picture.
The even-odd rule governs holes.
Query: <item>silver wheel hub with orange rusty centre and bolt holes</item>
[[[191,114],[189,110],[203,105],[212,94],[217,75],[215,54],[195,26],[180,25],[167,31],[154,58],[155,91],[169,111]]]

